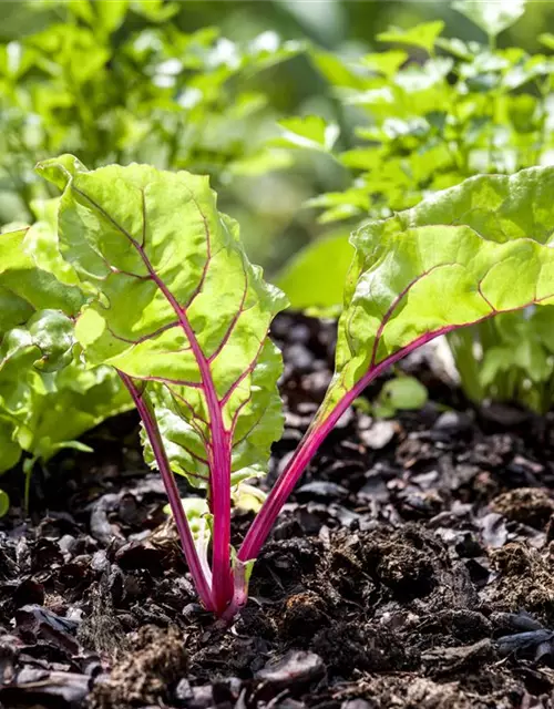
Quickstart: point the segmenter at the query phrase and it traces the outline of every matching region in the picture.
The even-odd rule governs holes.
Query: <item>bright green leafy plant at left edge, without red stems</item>
[[[76,439],[132,407],[110,368],[86,369],[72,351],[70,318],[84,297],[57,249],[47,222],[0,234],[0,473],[28,454],[25,506],[38,461],[90,450]]]

